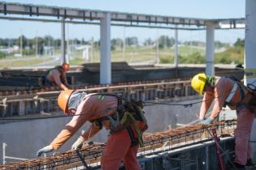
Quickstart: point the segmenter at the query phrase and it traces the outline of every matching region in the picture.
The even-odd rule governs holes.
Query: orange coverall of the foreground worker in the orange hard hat
[[[104,100],[98,98],[98,95],[92,96],[92,94],[85,96],[85,100],[79,104],[75,117],[67,123],[66,129],[62,130],[59,135],[54,138],[54,141],[50,145],[54,150],[59,149],[64,142],[72,137],[77,130],[86,122],[102,117],[103,111],[106,108],[112,108],[108,113],[114,113],[117,108],[117,98],[115,96],[104,96]],[[144,123],[142,123],[144,124]],[[141,125],[142,125],[141,124]],[[110,129],[110,121],[102,121],[102,125],[106,130]],[[97,134],[99,127],[92,124],[88,130],[82,134],[85,140],[93,137]],[[137,135],[135,130],[133,130],[135,136]],[[137,162],[137,150],[138,145],[134,147],[131,146],[131,139],[127,130],[121,130],[119,132],[110,134],[106,147],[102,155],[102,169],[103,170],[115,170],[119,169],[119,164],[124,160],[124,166],[127,169],[140,169]]]

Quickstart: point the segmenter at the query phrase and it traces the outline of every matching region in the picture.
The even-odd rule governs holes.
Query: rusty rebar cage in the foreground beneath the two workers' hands
[[[233,133],[236,120],[215,121],[211,125],[189,125],[174,130],[144,135],[144,147],[139,149],[138,157],[153,155],[163,151],[187,147],[211,140],[208,130],[216,129],[219,137],[227,137]],[[80,150],[81,156],[88,164],[98,163],[105,144],[94,143]],[[1,164],[0,169],[66,169],[82,166],[75,151],[67,151],[59,155],[37,158],[8,164]]]

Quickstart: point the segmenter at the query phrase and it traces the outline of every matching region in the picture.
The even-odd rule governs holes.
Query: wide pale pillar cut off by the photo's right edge
[[[256,70],[256,1],[245,1],[245,69]],[[245,79],[256,85],[256,77]]]

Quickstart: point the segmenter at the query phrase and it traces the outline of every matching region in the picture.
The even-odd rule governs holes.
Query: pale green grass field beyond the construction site
[[[179,55],[186,57],[192,53],[200,53],[204,55],[205,49],[194,46],[179,46]],[[60,56],[60,51],[55,51],[55,56]],[[69,54],[71,65],[81,65],[85,63],[85,59],[82,58],[82,50],[76,50]],[[156,49],[155,47],[132,47],[127,46],[125,51],[120,48],[116,48],[111,51],[111,62],[128,62],[128,63],[154,63],[156,61]],[[174,49],[158,49],[159,61],[163,63],[173,63]],[[23,56],[13,57],[8,56],[5,59],[0,60],[0,68],[10,67],[22,67],[22,66],[35,66],[40,63],[54,61],[54,57],[35,57],[35,56]],[[95,50],[92,52],[89,50],[89,61],[86,62],[99,62],[100,51]]]

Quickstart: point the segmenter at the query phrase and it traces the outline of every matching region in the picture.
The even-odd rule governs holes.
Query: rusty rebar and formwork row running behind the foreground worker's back
[[[169,100],[175,97],[195,96],[190,80],[156,80],[111,85],[76,87],[87,93],[111,93],[126,100]],[[0,91],[0,117],[20,117],[35,113],[59,112],[57,98],[60,91],[42,88],[40,91]],[[18,112],[19,111],[19,112]]]

